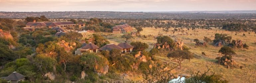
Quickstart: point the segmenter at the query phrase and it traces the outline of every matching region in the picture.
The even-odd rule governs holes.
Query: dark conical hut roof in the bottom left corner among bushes
[[[25,78],[26,76],[20,74],[20,73],[17,73],[17,72],[13,72],[11,73],[9,76],[7,76],[5,78],[5,80],[11,80],[11,81],[17,81],[17,80],[21,80],[23,78]]]

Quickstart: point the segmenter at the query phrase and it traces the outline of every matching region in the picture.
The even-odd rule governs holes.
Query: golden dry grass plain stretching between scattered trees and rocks
[[[171,29],[173,30],[173,28]],[[158,36],[159,31],[160,34],[170,36],[173,40],[176,38],[182,40],[187,47],[190,48],[190,51],[196,55],[196,58],[192,60],[185,60],[182,62],[182,69],[176,68],[172,72],[175,75],[180,74],[191,74],[191,72],[197,72],[197,71],[206,71],[207,69],[210,69],[210,72],[215,72],[216,74],[222,75],[223,79],[228,80],[230,83],[255,83],[256,82],[256,44],[253,44],[256,42],[255,33],[251,32],[250,34],[248,32],[237,32],[237,35],[235,35],[235,32],[229,32],[224,30],[219,30],[212,28],[212,30],[202,30],[202,29],[196,29],[195,31],[184,29],[186,32],[188,32],[188,35],[180,35],[183,34],[182,32],[163,32],[161,29],[155,29],[155,28],[143,28],[143,31],[141,32],[141,35],[153,35]],[[212,43],[209,43],[207,46],[195,46],[195,42],[193,42],[193,39],[199,39],[201,42],[203,42],[204,36],[214,39],[215,33],[222,33],[222,34],[228,34],[229,36],[232,36],[233,40],[239,39],[243,40],[243,43],[246,43],[249,45],[249,49],[243,49],[243,48],[237,48],[234,49],[236,52],[236,55],[233,55],[233,58],[236,62],[236,65],[243,66],[242,69],[240,67],[236,68],[230,68],[227,69],[226,67],[216,63],[215,57],[218,56],[218,50],[221,47],[215,47],[212,45]],[[243,36],[243,33],[245,36]],[[107,38],[110,43],[118,44],[120,42],[124,42],[125,39],[122,39],[122,34],[109,34],[109,33],[98,33],[105,35],[104,37]],[[192,35],[190,35],[192,34]],[[87,37],[89,37],[91,34],[87,34]],[[131,41],[142,41],[145,43],[148,43],[150,49],[153,48],[153,44],[156,42],[156,39],[153,37],[148,38],[134,38]],[[191,42],[192,41],[192,42]],[[202,55],[201,52],[204,52],[206,56]],[[165,53],[162,53],[165,54]],[[167,53],[166,53],[167,54]],[[162,61],[164,64],[170,63],[172,65],[178,65],[175,62],[172,62],[169,58],[167,58],[165,55],[159,55],[156,56],[160,61]],[[138,76],[138,75],[137,75]],[[128,77],[131,79],[139,78],[139,77]]]

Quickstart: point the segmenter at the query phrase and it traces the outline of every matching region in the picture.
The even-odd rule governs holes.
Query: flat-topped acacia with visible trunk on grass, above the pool
[[[172,61],[177,62],[180,65],[181,69],[181,62],[185,59],[192,59],[193,55],[188,50],[176,50],[172,51],[171,53],[168,53],[167,57],[172,58]]]

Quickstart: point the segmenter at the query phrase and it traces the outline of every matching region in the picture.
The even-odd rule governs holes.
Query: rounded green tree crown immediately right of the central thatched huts
[[[130,43],[134,48],[135,51],[142,51],[149,47],[147,43],[141,42],[141,41],[132,41]]]

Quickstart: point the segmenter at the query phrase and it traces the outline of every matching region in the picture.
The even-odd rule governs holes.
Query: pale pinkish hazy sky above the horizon
[[[0,0],[0,11],[256,10],[256,0]]]

